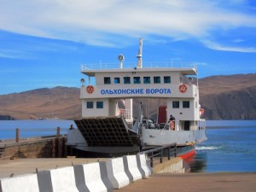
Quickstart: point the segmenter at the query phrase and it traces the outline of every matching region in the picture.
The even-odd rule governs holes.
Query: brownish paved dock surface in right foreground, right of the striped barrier
[[[157,174],[114,192],[255,192],[256,173]]]

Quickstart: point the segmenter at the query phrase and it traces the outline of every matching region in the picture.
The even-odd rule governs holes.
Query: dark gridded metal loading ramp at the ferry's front
[[[74,120],[88,147],[131,147],[137,145],[137,132],[129,129],[123,117]]]

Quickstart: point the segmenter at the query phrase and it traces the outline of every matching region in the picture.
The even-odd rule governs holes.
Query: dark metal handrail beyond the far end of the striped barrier
[[[167,157],[168,160],[171,159],[171,156],[177,157],[177,143],[171,143],[160,148],[153,148],[141,152],[140,154],[146,154],[150,162],[150,166],[154,166],[154,160],[159,159],[160,163],[163,163],[164,149],[167,148]],[[172,155],[171,155],[172,154]]]

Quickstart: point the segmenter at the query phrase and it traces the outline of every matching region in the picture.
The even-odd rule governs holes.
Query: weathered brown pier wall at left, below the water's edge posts
[[[29,138],[19,143],[3,141],[0,160],[67,157],[66,142],[67,137]]]

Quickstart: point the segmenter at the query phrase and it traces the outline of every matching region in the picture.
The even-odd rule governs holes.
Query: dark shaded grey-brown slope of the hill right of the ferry
[[[201,96],[206,119],[256,119],[256,85],[242,90]]]

